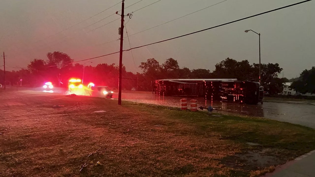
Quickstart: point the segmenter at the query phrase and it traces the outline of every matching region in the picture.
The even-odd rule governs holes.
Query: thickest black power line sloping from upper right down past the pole
[[[266,11],[266,12],[262,12],[262,13],[260,13],[260,14],[255,14],[255,15],[251,15],[251,16],[249,16],[249,17],[245,17],[245,18],[242,18],[242,19],[238,19],[238,20],[234,20],[234,21],[231,21],[231,22],[227,22],[227,23],[224,23],[224,24],[221,24],[221,25],[217,25],[217,26],[213,26],[213,27],[206,28],[206,29],[203,29],[203,30],[195,31],[195,32],[192,32],[192,33],[188,33],[188,34],[185,34],[185,35],[178,36],[178,37],[173,37],[173,38],[165,39],[165,40],[158,41],[158,42],[155,42],[155,43],[150,43],[150,44],[146,44],[146,45],[142,45],[142,46],[130,48],[130,49],[127,49],[127,50],[124,50],[124,51],[129,51],[129,50],[132,50],[132,49],[138,49],[138,48],[145,47],[145,46],[148,46],[148,45],[152,45],[152,44],[156,44],[156,43],[162,43],[162,42],[165,42],[165,41],[169,41],[169,40],[173,40],[173,39],[176,39],[176,38],[180,38],[180,37],[192,35],[192,34],[195,34],[195,33],[202,32],[202,31],[207,31],[207,30],[210,30],[210,29],[213,29],[213,28],[217,28],[217,27],[220,27],[220,26],[225,26],[225,25],[228,25],[228,24],[231,24],[231,23],[235,23],[235,22],[238,22],[238,21],[241,21],[241,20],[249,19],[249,18],[252,18],[252,17],[255,17],[255,16],[259,16],[259,15],[262,15],[262,14],[267,14],[267,13],[270,13],[270,12],[273,12],[273,11],[277,11],[277,10],[280,10],[280,9],[285,9],[285,8],[288,8],[288,7],[291,7],[291,6],[295,6],[295,5],[298,5],[298,4],[302,4],[302,3],[306,3],[306,2],[309,2],[309,1],[312,1],[312,0],[305,0],[305,1],[302,1],[302,2],[299,2],[299,3],[294,3],[294,4],[287,5],[287,6],[284,6],[284,7],[280,7],[280,8],[277,8],[277,9],[273,9],[273,10],[269,10],[269,11]],[[89,59],[85,59],[85,60],[74,61],[74,62],[72,62],[72,63],[77,63],[77,62],[86,61],[86,60],[92,60],[92,59],[95,59],[95,58],[100,58],[100,57],[104,57],[104,56],[108,56],[108,55],[112,55],[112,54],[117,54],[117,53],[119,53],[119,51],[118,51],[118,52],[111,53],[111,54],[106,54],[106,55],[97,56],[97,57],[94,57],[94,58],[89,58]],[[69,64],[72,64],[72,63],[69,63]],[[50,67],[52,67],[52,66],[50,66]]]

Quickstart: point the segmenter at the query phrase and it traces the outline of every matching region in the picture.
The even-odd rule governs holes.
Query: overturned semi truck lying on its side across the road
[[[264,87],[237,79],[162,79],[152,81],[152,94],[257,104],[262,103]]]

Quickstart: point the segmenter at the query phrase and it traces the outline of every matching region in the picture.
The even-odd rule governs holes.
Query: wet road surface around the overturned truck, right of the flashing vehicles
[[[117,99],[117,95],[114,95]],[[163,97],[153,94],[122,93],[122,99],[139,103],[180,107],[180,97]],[[187,98],[187,104],[190,105]],[[199,106],[212,106],[218,111],[232,113],[235,115],[245,115],[251,117],[265,117],[282,122],[299,124],[315,128],[315,106],[308,104],[264,102],[262,105],[245,105],[232,102],[209,101],[197,98]]]

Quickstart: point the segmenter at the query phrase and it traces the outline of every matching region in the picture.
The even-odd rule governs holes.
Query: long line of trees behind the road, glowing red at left
[[[87,66],[85,66],[87,65]],[[40,87],[45,82],[53,82],[54,85],[67,86],[67,82],[71,77],[83,78],[85,84],[93,82],[97,85],[106,85],[111,88],[118,87],[118,72],[119,67],[112,64],[98,64],[93,67],[88,65],[73,63],[73,60],[68,54],[62,52],[47,53],[47,59],[34,59],[27,66],[27,69],[19,71],[7,72],[6,81],[11,84],[19,84],[20,79],[23,79],[23,85],[31,87]],[[248,60],[236,61],[231,58],[217,63],[215,70],[208,69],[189,69],[187,67],[180,68],[177,60],[169,58],[164,63],[160,64],[154,58],[147,59],[146,62],[141,62],[139,68],[142,73],[133,73],[126,71],[123,66],[123,89],[130,90],[132,88],[150,91],[152,89],[151,81],[157,79],[211,79],[211,78],[235,78],[238,80],[259,81],[259,64],[249,64]],[[282,92],[283,83],[288,82],[287,78],[279,78],[278,74],[283,69],[278,63],[261,64],[261,85],[270,94]],[[309,72],[303,71],[301,79],[294,82],[294,89],[297,91],[302,89],[303,83],[309,82],[312,78],[308,78]],[[84,77],[83,77],[84,71]],[[307,75],[307,76],[306,76]],[[3,72],[1,72],[0,82],[3,83]],[[314,81],[314,79],[312,80]],[[305,84],[304,84],[305,86]],[[304,88],[304,87],[303,87]],[[307,91],[314,92],[313,88],[308,88]],[[302,92],[302,91],[301,91]],[[303,90],[304,92],[304,90]]]

